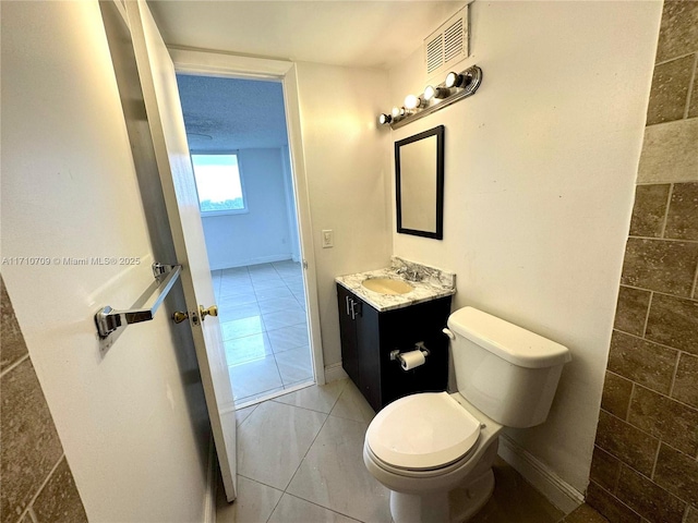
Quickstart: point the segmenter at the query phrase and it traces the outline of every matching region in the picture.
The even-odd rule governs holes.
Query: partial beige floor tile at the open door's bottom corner
[[[261,523],[272,515],[274,508],[281,499],[280,490],[261,483],[238,476],[238,499],[228,503],[222,484],[218,482],[216,492],[217,523]]]

